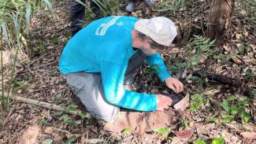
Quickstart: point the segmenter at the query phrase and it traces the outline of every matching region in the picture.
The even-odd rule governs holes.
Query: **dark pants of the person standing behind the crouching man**
[[[85,0],[80,1],[85,3]],[[85,3],[85,5],[87,4]],[[100,9],[95,2],[90,1],[90,8],[92,12],[95,13],[96,17],[100,17]],[[83,21],[85,21],[85,7],[79,2],[76,2],[76,0],[72,0],[69,13],[71,20],[70,31],[72,31],[73,36],[76,35],[77,31],[82,29]]]

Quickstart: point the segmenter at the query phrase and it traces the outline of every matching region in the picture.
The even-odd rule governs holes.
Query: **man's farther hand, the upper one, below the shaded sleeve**
[[[174,90],[177,94],[184,89],[184,85],[180,82],[180,80],[173,77],[165,79],[165,85]]]

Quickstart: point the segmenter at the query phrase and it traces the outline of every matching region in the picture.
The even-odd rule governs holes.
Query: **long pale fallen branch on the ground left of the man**
[[[2,97],[2,94],[0,95],[0,97]],[[4,97],[7,97],[6,94],[4,95]],[[87,113],[84,116],[84,114],[80,110],[69,110],[69,109],[67,109],[63,106],[60,106],[60,105],[55,105],[55,104],[51,104],[51,103],[48,103],[48,102],[37,101],[37,100],[31,99],[31,98],[24,98],[24,97],[20,97],[20,96],[17,96],[17,95],[12,95],[12,94],[9,94],[9,98],[13,99],[17,102],[24,102],[24,103],[28,103],[28,104],[31,104],[31,105],[38,105],[38,106],[46,108],[46,109],[56,110],[56,111],[60,111],[60,112],[64,112],[64,113],[69,113],[69,114],[77,115],[77,116],[80,116],[80,117],[87,117],[87,118],[91,117],[91,115],[89,113]]]

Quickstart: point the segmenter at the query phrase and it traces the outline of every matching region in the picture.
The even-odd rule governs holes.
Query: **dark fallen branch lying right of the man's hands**
[[[221,76],[210,72],[201,72],[201,71],[195,71],[193,72],[193,76],[198,77],[204,77],[206,76],[207,79],[217,81],[219,83],[223,84],[229,84],[235,87],[242,87],[242,81],[240,79],[234,79],[228,76]]]

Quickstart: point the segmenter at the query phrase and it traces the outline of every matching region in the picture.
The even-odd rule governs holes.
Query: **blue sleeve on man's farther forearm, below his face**
[[[165,67],[160,54],[151,54],[150,56],[147,56],[146,60],[148,65],[155,70],[162,82],[164,82],[168,77],[171,77],[171,74]]]

